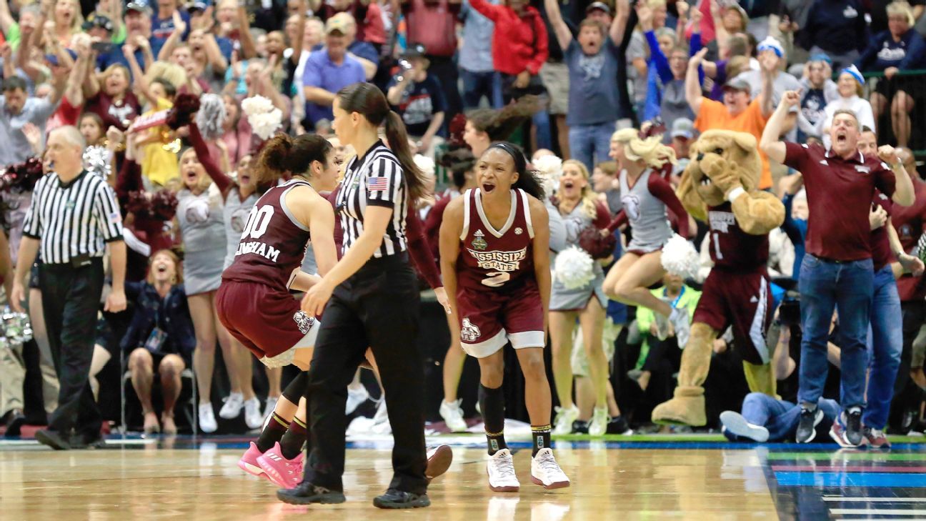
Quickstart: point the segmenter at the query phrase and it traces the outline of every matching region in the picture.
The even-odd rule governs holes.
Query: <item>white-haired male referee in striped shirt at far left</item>
[[[58,407],[35,438],[57,450],[102,441],[100,412],[90,390],[96,311],[103,292],[104,243],[109,245],[112,293],[106,311],[125,309],[125,243],[112,189],[83,170],[83,136],[73,126],[52,131],[46,153],[55,173],[35,184],[23,222],[10,303],[22,311],[22,283],[42,252],[39,289],[48,344],[60,382]]]

